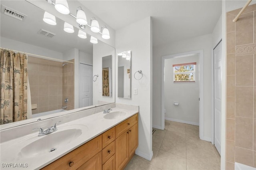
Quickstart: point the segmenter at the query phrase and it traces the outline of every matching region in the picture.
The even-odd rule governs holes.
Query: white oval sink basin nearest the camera
[[[24,142],[24,147],[21,148],[19,155],[23,157],[34,157],[54,152],[55,150],[61,150],[61,148],[75,141],[87,130],[88,128],[85,125],[69,125],[60,127],[57,131],[44,136],[33,136],[22,141]],[[32,138],[33,140],[31,142]]]

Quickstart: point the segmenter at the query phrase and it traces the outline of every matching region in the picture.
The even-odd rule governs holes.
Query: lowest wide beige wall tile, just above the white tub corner
[[[245,164],[248,166],[253,166],[252,150],[248,150],[248,149],[244,149],[236,146],[235,152],[236,152],[236,156],[235,156],[236,162]]]

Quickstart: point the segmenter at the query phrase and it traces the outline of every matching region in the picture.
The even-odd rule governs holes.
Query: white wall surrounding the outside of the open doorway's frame
[[[204,138],[212,138],[212,35],[153,47],[153,126],[161,127],[161,57],[164,55],[204,50]]]

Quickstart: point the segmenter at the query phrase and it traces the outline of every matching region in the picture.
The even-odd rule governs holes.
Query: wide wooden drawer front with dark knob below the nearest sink
[[[102,135],[90,140],[58,160],[42,168],[43,170],[76,170],[92,156],[102,150]]]

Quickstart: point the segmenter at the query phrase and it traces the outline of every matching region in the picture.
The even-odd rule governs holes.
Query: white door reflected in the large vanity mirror
[[[79,64],[79,107],[92,105],[92,66]]]

